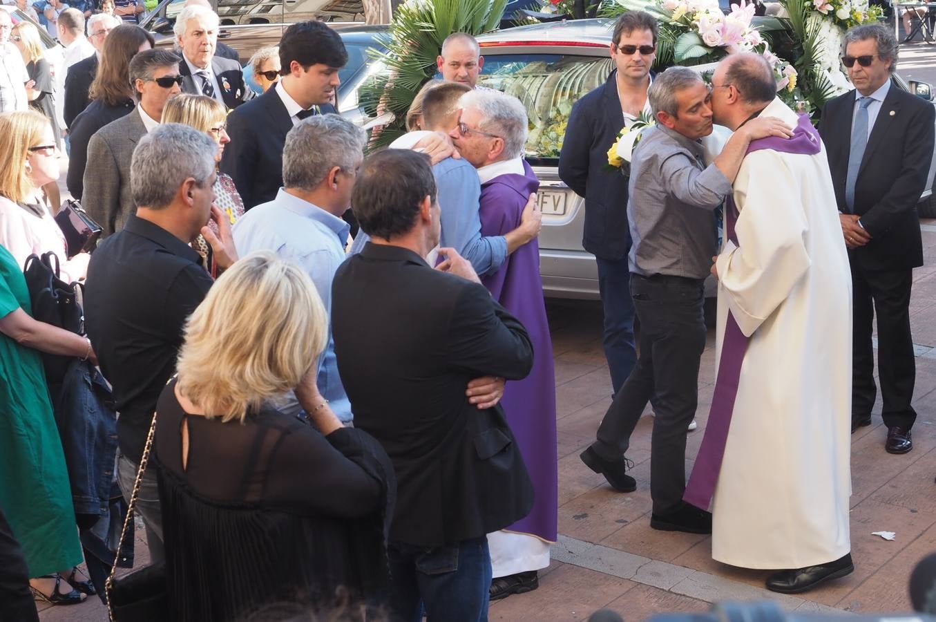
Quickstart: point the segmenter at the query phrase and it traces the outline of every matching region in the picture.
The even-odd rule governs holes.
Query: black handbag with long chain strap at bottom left
[[[171,379],[171,378],[169,378]],[[168,383],[167,383],[168,384]],[[156,431],[156,413],[150,423],[150,432],[146,436],[146,445],[139,459],[137,479],[133,482],[133,493],[127,506],[124,529],[117,544],[117,558],[110,567],[110,576],[104,584],[104,591],[108,599],[108,612],[111,622],[165,622],[169,616],[168,584],[166,579],[166,563],[159,562],[130,572],[115,579],[117,562],[120,560],[120,551],[124,548],[124,539],[127,532],[132,531],[133,509],[137,505],[139,485],[143,472],[150,462],[150,451],[153,449],[153,437]]]

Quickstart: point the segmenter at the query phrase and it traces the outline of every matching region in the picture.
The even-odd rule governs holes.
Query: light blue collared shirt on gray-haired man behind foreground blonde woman
[[[234,244],[241,255],[271,250],[300,265],[312,278],[329,313],[329,343],[318,363],[318,391],[343,422],[350,422],[351,403],[338,375],[335,343],[331,338],[331,281],[344,261],[350,227],[312,203],[280,188],[276,199],[241,216],[234,225]]]

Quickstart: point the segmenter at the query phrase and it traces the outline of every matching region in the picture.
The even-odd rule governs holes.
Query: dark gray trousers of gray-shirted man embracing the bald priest
[[[680,503],[686,488],[686,433],[698,401],[699,360],[705,349],[705,291],[701,279],[631,275],[640,358],[598,428],[594,451],[619,460],[647,402],[653,405],[653,511]]]

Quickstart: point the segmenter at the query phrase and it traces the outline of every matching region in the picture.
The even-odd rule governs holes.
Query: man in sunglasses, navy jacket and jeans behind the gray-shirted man
[[[625,124],[629,126],[641,113],[651,114],[647,89],[656,39],[656,20],[648,13],[628,11],[618,19],[611,36],[611,58],[617,68],[604,85],[572,108],[559,156],[559,176],[585,199],[582,246],[598,263],[598,289],[605,309],[605,358],[615,393],[634,369],[636,347],[627,266],[631,248],[627,179],[607,170],[607,150]]]

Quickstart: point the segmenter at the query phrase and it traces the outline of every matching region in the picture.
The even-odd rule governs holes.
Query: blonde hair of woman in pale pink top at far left
[[[26,174],[26,158],[49,127],[49,119],[37,111],[0,114],[0,196],[22,201],[36,190]]]

